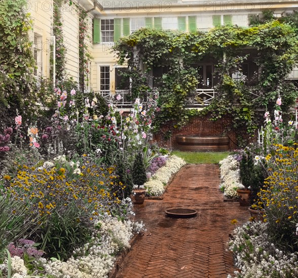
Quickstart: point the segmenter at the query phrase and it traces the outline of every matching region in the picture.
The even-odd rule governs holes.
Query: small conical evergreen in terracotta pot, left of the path
[[[146,190],[143,187],[143,184],[147,180],[146,170],[144,166],[143,155],[141,152],[137,153],[132,168],[132,180],[134,183],[134,203],[143,204],[145,200]]]

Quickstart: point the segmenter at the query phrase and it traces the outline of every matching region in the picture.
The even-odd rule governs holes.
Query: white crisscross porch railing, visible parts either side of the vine
[[[118,107],[132,107],[131,94],[129,90],[101,90],[97,91],[107,102],[113,100]],[[196,89],[192,96],[187,99],[188,108],[204,107],[210,104],[217,92],[214,89]],[[117,96],[118,99],[117,99]]]

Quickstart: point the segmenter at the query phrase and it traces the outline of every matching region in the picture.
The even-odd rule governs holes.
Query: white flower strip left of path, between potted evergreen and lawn
[[[186,162],[182,158],[175,155],[168,158],[166,164],[144,183],[147,193],[151,196],[161,196],[171,177],[185,164]]]

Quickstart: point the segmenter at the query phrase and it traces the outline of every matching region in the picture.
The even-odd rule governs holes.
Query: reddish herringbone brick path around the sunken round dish
[[[249,218],[247,207],[223,202],[217,165],[187,165],[175,176],[164,200],[135,205],[147,231],[123,261],[117,278],[221,278],[235,270],[227,252],[229,233]],[[170,218],[164,210],[194,208],[193,218]]]

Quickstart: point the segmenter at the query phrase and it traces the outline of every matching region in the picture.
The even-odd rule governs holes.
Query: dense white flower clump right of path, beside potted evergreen
[[[238,197],[236,190],[238,188],[244,188],[240,182],[239,162],[233,155],[229,155],[227,158],[219,161],[219,169],[221,179],[220,190],[224,191],[224,196],[227,198],[236,199]]]

